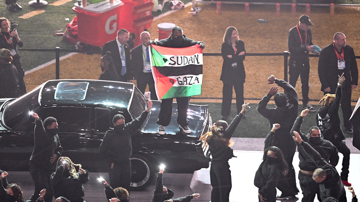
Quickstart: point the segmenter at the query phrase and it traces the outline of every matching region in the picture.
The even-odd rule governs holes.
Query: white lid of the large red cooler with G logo
[[[113,4],[110,4],[109,0],[100,1],[96,4],[87,3],[86,7],[78,6],[77,3],[75,3],[75,7],[77,9],[84,10],[90,13],[104,13],[107,12],[108,10],[114,9],[122,5],[124,5],[124,3],[120,0],[114,0]]]

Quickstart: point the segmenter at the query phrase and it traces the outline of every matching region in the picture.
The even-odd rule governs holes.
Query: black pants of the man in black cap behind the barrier
[[[309,102],[309,61],[298,62],[289,60],[289,84],[295,88],[297,79],[301,79],[302,104]]]

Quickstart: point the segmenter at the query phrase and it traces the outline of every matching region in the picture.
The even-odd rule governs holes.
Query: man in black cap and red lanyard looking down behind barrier
[[[312,37],[310,26],[314,25],[307,15],[301,15],[299,24],[289,30],[288,49],[289,59],[289,83],[295,88],[297,79],[301,79],[302,109],[316,111],[309,104],[309,52],[312,48]]]

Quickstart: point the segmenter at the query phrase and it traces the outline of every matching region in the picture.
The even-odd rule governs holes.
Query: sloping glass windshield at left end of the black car
[[[36,110],[39,105],[39,93],[41,86],[33,89],[26,95],[10,102],[4,108],[2,119],[4,124],[17,131],[26,132],[31,127],[30,111]]]

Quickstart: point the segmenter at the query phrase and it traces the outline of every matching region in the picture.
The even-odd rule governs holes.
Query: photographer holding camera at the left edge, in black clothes
[[[0,49],[8,49],[12,52],[12,64],[16,67],[16,70],[18,71],[19,88],[21,90],[21,95],[24,95],[26,93],[26,86],[24,82],[25,71],[22,68],[20,56],[17,50],[17,46],[23,47],[24,42],[20,39],[18,35],[18,32],[16,30],[17,24],[15,21],[10,23],[8,19],[2,17],[0,18],[0,24]]]

